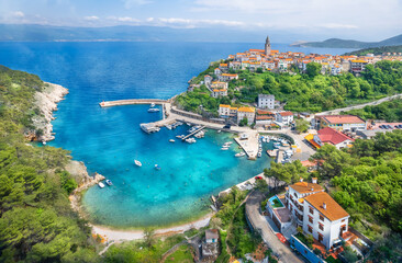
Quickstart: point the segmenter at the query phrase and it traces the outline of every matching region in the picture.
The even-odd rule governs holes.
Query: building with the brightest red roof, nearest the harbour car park
[[[355,141],[353,138],[348,137],[347,135],[344,135],[340,132],[337,132],[336,129],[326,127],[323,129],[320,129],[316,135],[314,135],[314,141],[316,145],[319,145],[320,148],[323,145],[333,145],[337,149],[342,149],[345,147],[350,147],[351,144]]]

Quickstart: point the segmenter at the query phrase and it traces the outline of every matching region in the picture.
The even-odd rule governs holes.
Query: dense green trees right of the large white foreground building
[[[333,197],[350,214],[350,226],[377,241],[373,262],[402,261],[402,130],[357,139],[349,150],[326,145],[313,176],[330,182]]]

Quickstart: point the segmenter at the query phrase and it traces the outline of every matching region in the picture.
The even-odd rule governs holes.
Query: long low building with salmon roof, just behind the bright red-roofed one
[[[316,115],[312,121],[312,125],[316,129],[331,127],[339,132],[367,129],[366,121],[355,115]]]

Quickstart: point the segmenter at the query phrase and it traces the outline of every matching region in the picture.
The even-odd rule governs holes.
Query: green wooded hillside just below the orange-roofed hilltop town
[[[209,73],[213,76],[212,65],[201,72],[193,83]],[[298,69],[293,67],[297,72]],[[250,104],[258,94],[275,94],[284,104],[284,110],[294,112],[322,112],[377,100],[402,92],[402,62],[379,61],[368,65],[361,77],[351,73],[339,76],[321,75],[321,65],[311,62],[306,73],[272,73],[257,70],[237,71],[238,80],[228,84],[228,96],[214,99],[201,85],[193,92],[179,95],[177,104],[187,111],[216,113],[220,103],[232,105]],[[235,72],[235,71],[233,71]],[[200,107],[202,105],[202,108]]]

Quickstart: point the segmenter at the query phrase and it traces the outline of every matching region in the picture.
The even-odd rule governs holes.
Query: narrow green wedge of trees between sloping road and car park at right
[[[345,114],[360,116],[364,119],[386,119],[389,123],[402,122],[402,100],[392,100],[379,105],[351,110]]]

